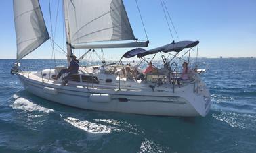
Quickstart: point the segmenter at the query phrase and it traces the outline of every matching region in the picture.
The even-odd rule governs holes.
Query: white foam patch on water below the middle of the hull
[[[106,125],[98,124],[98,123],[91,123],[89,121],[80,121],[74,117],[67,117],[64,121],[70,123],[74,127],[82,129],[83,131],[87,131],[89,133],[110,133],[113,131],[114,128],[108,127]]]

